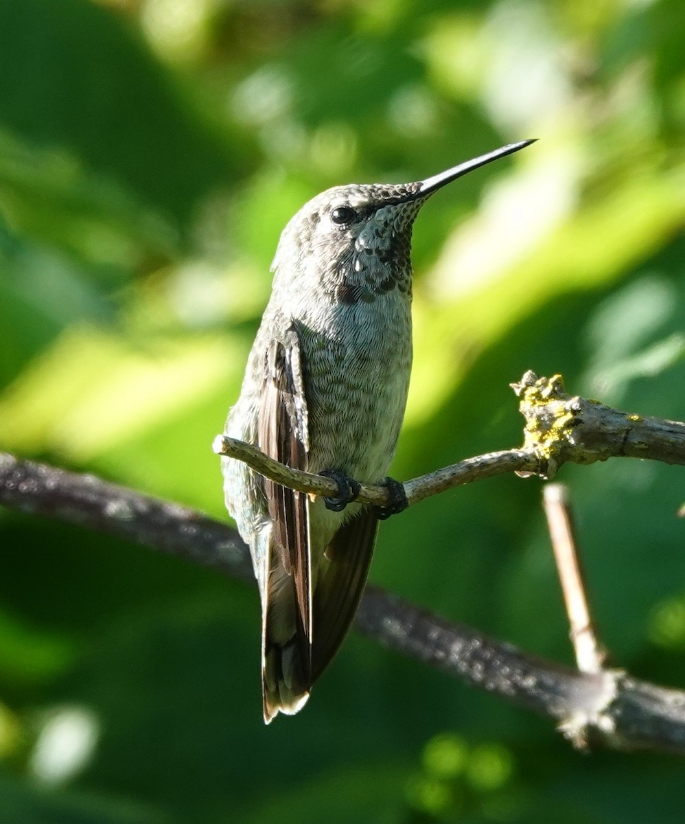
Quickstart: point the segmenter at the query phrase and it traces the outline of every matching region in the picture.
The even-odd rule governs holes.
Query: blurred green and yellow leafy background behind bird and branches
[[[538,143],[436,195],[393,474],[515,446],[507,384],[685,419],[681,0],[0,0],[0,448],[225,518],[210,445],[282,227],[352,181]],[[565,467],[603,639],[685,687],[683,470]],[[371,579],[571,662],[538,480],[383,525]],[[264,728],[254,588],[0,510],[0,820],[681,822],[683,761],[352,633]]]

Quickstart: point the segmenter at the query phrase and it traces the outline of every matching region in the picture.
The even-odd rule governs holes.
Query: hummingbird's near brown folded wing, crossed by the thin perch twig
[[[274,339],[267,350],[267,379],[259,409],[258,446],[268,456],[295,469],[307,468],[309,448],[307,433],[307,404],[302,376],[302,352],[296,326]],[[272,548],[269,552],[264,605],[265,660],[268,660],[269,631],[282,649],[278,655],[291,661],[298,659],[298,683],[295,690],[309,690],[311,682],[311,558],[305,493],[287,489],[273,480],[264,480],[264,492],[269,517],[273,522]],[[287,576],[291,583],[287,583]],[[292,601],[294,589],[295,604]],[[295,615],[290,617],[294,606]],[[273,616],[270,616],[273,608]],[[291,621],[292,636],[288,642],[282,627],[269,626],[269,621]],[[294,649],[292,645],[294,644]],[[284,652],[288,647],[290,651]],[[286,666],[283,658],[283,666]],[[280,664],[278,665],[281,666]],[[283,669],[277,680],[291,678]],[[266,682],[266,681],[265,681]],[[290,687],[288,687],[288,690]],[[266,687],[265,687],[266,690]],[[282,689],[283,691],[283,689]],[[292,696],[292,706],[295,705]],[[287,706],[281,709],[286,709]]]

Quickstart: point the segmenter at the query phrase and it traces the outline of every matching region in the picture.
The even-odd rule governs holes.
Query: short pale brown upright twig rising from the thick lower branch
[[[602,672],[606,654],[600,647],[586,595],[585,575],[575,541],[568,488],[546,484],[543,494],[550,540],[562,584],[566,614],[571,625],[571,642],[580,672]]]

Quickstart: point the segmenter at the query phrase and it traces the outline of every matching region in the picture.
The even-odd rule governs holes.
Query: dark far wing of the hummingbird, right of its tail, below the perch
[[[326,550],[314,592],[312,681],[329,665],[352,624],[369,573],[377,531],[378,518],[373,511],[361,509],[338,529]]]

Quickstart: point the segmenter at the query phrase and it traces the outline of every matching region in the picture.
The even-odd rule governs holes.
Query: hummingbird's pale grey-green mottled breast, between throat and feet
[[[374,483],[387,474],[412,364],[411,306],[394,290],[352,305],[319,302],[299,322],[310,471]]]

